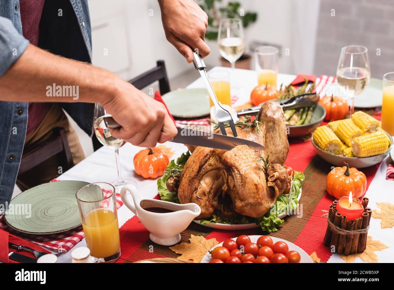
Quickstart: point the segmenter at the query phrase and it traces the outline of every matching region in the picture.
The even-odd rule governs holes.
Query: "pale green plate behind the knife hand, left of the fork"
[[[178,118],[197,118],[210,114],[206,89],[180,89],[163,95],[171,115]]]

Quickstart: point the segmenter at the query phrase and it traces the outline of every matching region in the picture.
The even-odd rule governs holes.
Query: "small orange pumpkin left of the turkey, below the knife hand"
[[[158,147],[143,149],[134,156],[134,170],[143,178],[162,176],[168,163],[167,154]]]

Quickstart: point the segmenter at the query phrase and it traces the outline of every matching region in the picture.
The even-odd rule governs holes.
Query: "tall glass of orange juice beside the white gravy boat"
[[[91,258],[115,262],[121,255],[115,188],[105,182],[87,184],[76,199]]]

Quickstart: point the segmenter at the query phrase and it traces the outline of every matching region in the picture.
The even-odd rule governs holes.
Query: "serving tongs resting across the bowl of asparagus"
[[[307,93],[307,94],[292,97],[290,99],[279,100],[277,102],[281,104],[283,110],[290,110],[290,109],[297,109],[303,107],[310,107],[316,104],[319,100],[320,100],[320,96],[318,94]],[[249,109],[238,111],[237,114],[238,116],[255,115],[260,110],[262,104],[263,103]]]

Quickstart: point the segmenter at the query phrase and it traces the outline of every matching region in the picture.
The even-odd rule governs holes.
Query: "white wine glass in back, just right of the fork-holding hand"
[[[217,43],[221,56],[230,61],[231,74],[234,77],[235,61],[245,51],[242,20],[238,18],[220,20]]]

